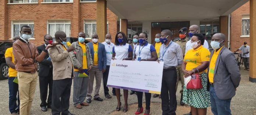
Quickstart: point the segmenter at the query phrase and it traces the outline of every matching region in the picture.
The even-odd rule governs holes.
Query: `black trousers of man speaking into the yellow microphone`
[[[69,114],[70,91],[72,79],[66,78],[61,80],[53,80],[53,95],[51,104],[51,113],[53,115]]]

